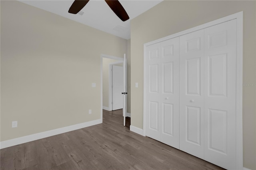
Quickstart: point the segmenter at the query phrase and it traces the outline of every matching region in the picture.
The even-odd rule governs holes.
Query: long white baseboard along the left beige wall
[[[65,133],[65,132],[70,132],[72,130],[86,128],[88,126],[93,126],[93,125],[101,124],[101,123],[102,123],[102,119],[92,120],[90,122],[74,124],[74,125],[71,125],[71,126],[66,126],[64,128],[58,128],[58,129],[49,130],[49,131],[46,131],[46,132],[41,132],[41,133],[32,134],[32,135],[28,135],[28,136],[22,136],[20,138],[5,140],[5,141],[0,142],[0,148],[1,149],[2,148],[7,148],[7,147],[10,147],[10,146],[23,144],[23,143],[26,143],[26,142],[31,142],[33,140],[38,140],[38,139],[42,139],[42,138],[47,138],[49,136],[54,136],[54,135],[57,135],[57,134],[62,134],[62,133]]]

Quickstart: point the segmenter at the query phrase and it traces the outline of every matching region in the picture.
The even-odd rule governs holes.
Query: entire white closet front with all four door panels
[[[236,169],[237,20],[144,48],[146,136]]]

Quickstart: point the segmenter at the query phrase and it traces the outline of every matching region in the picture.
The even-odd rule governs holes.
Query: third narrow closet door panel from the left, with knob
[[[180,150],[204,158],[204,30],[180,36]]]

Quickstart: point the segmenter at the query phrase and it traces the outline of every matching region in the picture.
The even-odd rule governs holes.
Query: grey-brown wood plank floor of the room
[[[1,170],[223,170],[129,130],[122,110],[103,123],[1,149]]]

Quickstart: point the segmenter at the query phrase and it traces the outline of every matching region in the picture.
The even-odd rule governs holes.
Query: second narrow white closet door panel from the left
[[[179,148],[179,37],[161,42],[161,142]]]

